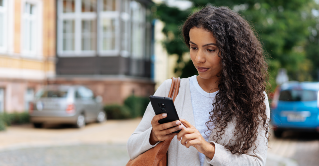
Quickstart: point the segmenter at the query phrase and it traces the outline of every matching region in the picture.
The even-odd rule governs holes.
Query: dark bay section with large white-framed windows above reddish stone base
[[[81,84],[104,103],[154,93],[151,0],[57,0],[56,77]]]

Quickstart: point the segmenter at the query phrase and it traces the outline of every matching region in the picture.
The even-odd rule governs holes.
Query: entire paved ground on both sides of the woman
[[[125,165],[126,142],[140,120],[110,120],[82,129],[9,127],[0,132],[0,166]],[[286,132],[281,139],[270,139],[267,166],[319,165],[319,134]]]

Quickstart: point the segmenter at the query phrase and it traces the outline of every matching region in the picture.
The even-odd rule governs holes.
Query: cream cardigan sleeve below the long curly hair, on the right
[[[270,117],[270,108],[267,94],[264,92],[265,104],[266,104],[266,115],[267,115],[267,123],[269,124]],[[246,154],[232,154],[230,150],[225,149],[223,145],[220,145],[216,142],[209,142],[215,145],[215,155],[212,159],[205,157],[205,161],[213,166],[228,166],[228,165],[237,165],[237,166],[264,166],[266,164],[267,157],[267,148],[268,148],[268,139],[265,136],[265,130],[262,125],[259,126],[256,144],[257,147],[255,149],[256,156],[254,154],[254,146],[248,149]],[[268,136],[268,133],[267,133]]]

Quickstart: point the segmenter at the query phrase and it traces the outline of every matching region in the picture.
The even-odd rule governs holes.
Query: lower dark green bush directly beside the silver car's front
[[[104,107],[108,119],[127,119],[130,118],[130,108],[118,104],[107,105]]]

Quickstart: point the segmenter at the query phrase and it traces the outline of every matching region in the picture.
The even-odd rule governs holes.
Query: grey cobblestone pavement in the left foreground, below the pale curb
[[[0,152],[1,166],[121,166],[129,161],[126,145],[72,145]]]

